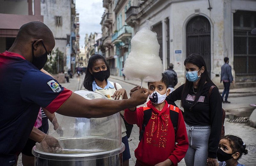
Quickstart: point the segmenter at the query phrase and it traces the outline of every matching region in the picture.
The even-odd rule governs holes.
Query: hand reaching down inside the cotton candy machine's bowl
[[[46,135],[41,143],[36,144],[36,147],[47,153],[59,153],[61,150],[59,141],[50,135]]]

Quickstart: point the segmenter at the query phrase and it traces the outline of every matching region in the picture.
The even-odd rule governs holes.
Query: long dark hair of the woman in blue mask
[[[212,85],[215,85],[215,84],[212,82],[212,80],[210,79],[210,77],[208,75],[208,71],[207,71],[206,64],[204,62],[204,58],[201,55],[198,55],[198,54],[189,55],[185,59],[184,65],[186,65],[187,63],[194,64],[197,67],[199,67],[199,69],[201,69],[204,66],[204,72],[201,74],[201,78],[198,82],[196,98],[195,98],[195,101],[193,102],[192,106],[190,107],[190,109],[191,109],[196,104],[197,100],[199,99],[200,95],[202,94],[202,90],[203,90],[205,81],[211,83]],[[188,79],[186,78],[185,86],[183,87],[182,95],[181,95],[181,106],[182,107],[184,106],[185,99],[186,99],[190,89],[192,89],[192,86],[193,86],[193,82],[188,81]]]

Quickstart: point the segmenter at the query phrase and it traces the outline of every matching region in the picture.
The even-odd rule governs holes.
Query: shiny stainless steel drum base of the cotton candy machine
[[[33,147],[36,166],[122,166],[125,147],[123,143],[118,147],[117,140],[82,137],[60,139],[59,142],[65,149],[58,153],[46,153]]]

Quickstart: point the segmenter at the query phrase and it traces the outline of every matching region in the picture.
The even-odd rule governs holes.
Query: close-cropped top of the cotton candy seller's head
[[[19,42],[28,41],[28,39],[43,39],[49,42],[54,40],[51,29],[40,21],[32,21],[22,25],[16,38]]]

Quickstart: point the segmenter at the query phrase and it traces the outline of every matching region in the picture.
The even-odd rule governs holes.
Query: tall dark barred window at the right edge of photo
[[[251,34],[256,12],[234,13],[234,70],[237,76],[256,75],[256,36]]]

